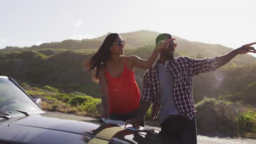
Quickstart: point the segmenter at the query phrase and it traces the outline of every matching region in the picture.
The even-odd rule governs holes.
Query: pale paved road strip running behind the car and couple
[[[48,113],[56,113],[59,115],[62,115],[65,117],[65,115],[72,115],[72,114],[67,114],[67,113],[60,113],[60,112],[48,112]],[[72,115],[74,117],[74,119],[88,119],[88,121],[93,120],[94,118],[91,117],[79,117],[76,115]],[[146,122],[147,124],[147,122]],[[150,125],[146,125],[147,128],[152,128],[155,130],[160,130],[159,127],[152,127]],[[199,144],[255,144],[256,140],[255,139],[233,139],[230,137],[208,137],[208,136],[202,136],[202,135],[197,135],[197,143]]]

